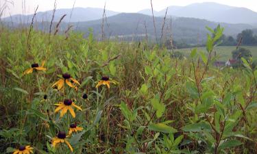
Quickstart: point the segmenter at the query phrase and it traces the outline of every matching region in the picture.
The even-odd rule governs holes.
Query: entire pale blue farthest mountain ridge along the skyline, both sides
[[[72,12],[72,16],[71,16]],[[160,11],[154,10],[154,16],[164,16],[166,8]],[[51,21],[53,10],[46,12],[38,12],[36,14],[37,21]],[[106,16],[113,16],[121,12],[115,12],[112,10],[106,10]],[[147,14],[152,16],[151,9],[140,10],[137,13]],[[64,18],[64,22],[84,22],[93,21],[103,16],[102,8],[64,8],[56,10],[54,21],[59,21],[61,16],[67,14]],[[200,18],[208,21],[225,22],[225,23],[247,23],[254,25],[257,23],[257,12],[249,10],[247,8],[239,8],[230,5],[223,5],[214,2],[204,3],[192,3],[186,6],[172,5],[168,7],[168,16]],[[3,18],[3,21],[12,21],[20,23],[21,21],[29,23],[32,20],[33,14],[23,16],[22,14],[16,14],[11,17]],[[71,16],[71,19],[69,19]]]

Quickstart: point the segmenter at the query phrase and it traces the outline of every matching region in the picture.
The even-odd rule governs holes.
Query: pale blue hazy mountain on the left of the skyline
[[[72,14],[71,14],[72,12]],[[118,14],[119,12],[114,12],[110,10],[106,10],[106,16],[113,16]],[[49,10],[47,12],[38,12],[36,14],[36,21],[38,22],[47,22],[51,21],[53,14],[53,10]],[[60,18],[66,14],[64,18],[64,22],[82,22],[82,21],[93,21],[103,16],[103,9],[101,8],[74,8],[72,9],[58,9],[55,13],[54,21],[58,22]],[[71,16],[71,19],[70,19]],[[3,21],[6,22],[14,22],[14,23],[29,23],[32,21],[33,14],[23,16],[21,14],[14,15],[8,18],[3,18]]]

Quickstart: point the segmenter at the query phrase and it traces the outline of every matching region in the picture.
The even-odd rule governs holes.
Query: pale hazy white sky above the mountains
[[[6,0],[0,0],[0,6]],[[23,14],[22,3],[25,1],[26,14],[32,14],[38,5],[38,11],[52,10],[54,0],[8,0],[13,1],[14,5],[9,5],[8,14]],[[57,8],[72,8],[75,0],[57,0]],[[162,10],[170,5],[188,5],[191,3],[217,2],[237,7],[245,7],[257,12],[257,0],[152,0],[154,10]],[[150,0],[76,0],[75,7],[103,8],[106,2],[106,9],[117,12],[138,12],[145,8],[151,8]]]

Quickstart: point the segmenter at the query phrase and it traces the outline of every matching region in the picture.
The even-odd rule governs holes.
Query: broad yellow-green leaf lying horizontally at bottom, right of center
[[[162,133],[176,133],[177,130],[173,127],[165,125],[163,123],[151,124],[148,126],[148,129],[151,131],[160,131]]]

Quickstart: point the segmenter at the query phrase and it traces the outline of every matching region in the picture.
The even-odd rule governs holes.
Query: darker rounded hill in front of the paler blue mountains
[[[162,17],[156,17],[156,33],[158,37],[161,35]],[[145,25],[147,27],[147,35],[154,39],[154,25],[151,16],[136,13],[121,13],[115,16],[110,16],[106,19],[107,25],[104,26],[104,31],[107,37],[120,36],[128,37],[145,37]],[[164,27],[164,35],[170,36],[170,18]],[[75,23],[74,23],[75,24]],[[173,38],[186,43],[197,44],[206,40],[206,26],[215,28],[219,23],[206,21],[197,18],[173,18],[172,31]],[[224,33],[226,35],[236,36],[243,29],[253,29],[252,25],[247,24],[228,24],[220,23],[225,27]],[[87,31],[88,28],[93,28],[95,36],[101,36],[101,20],[81,22],[77,25],[77,31]]]

